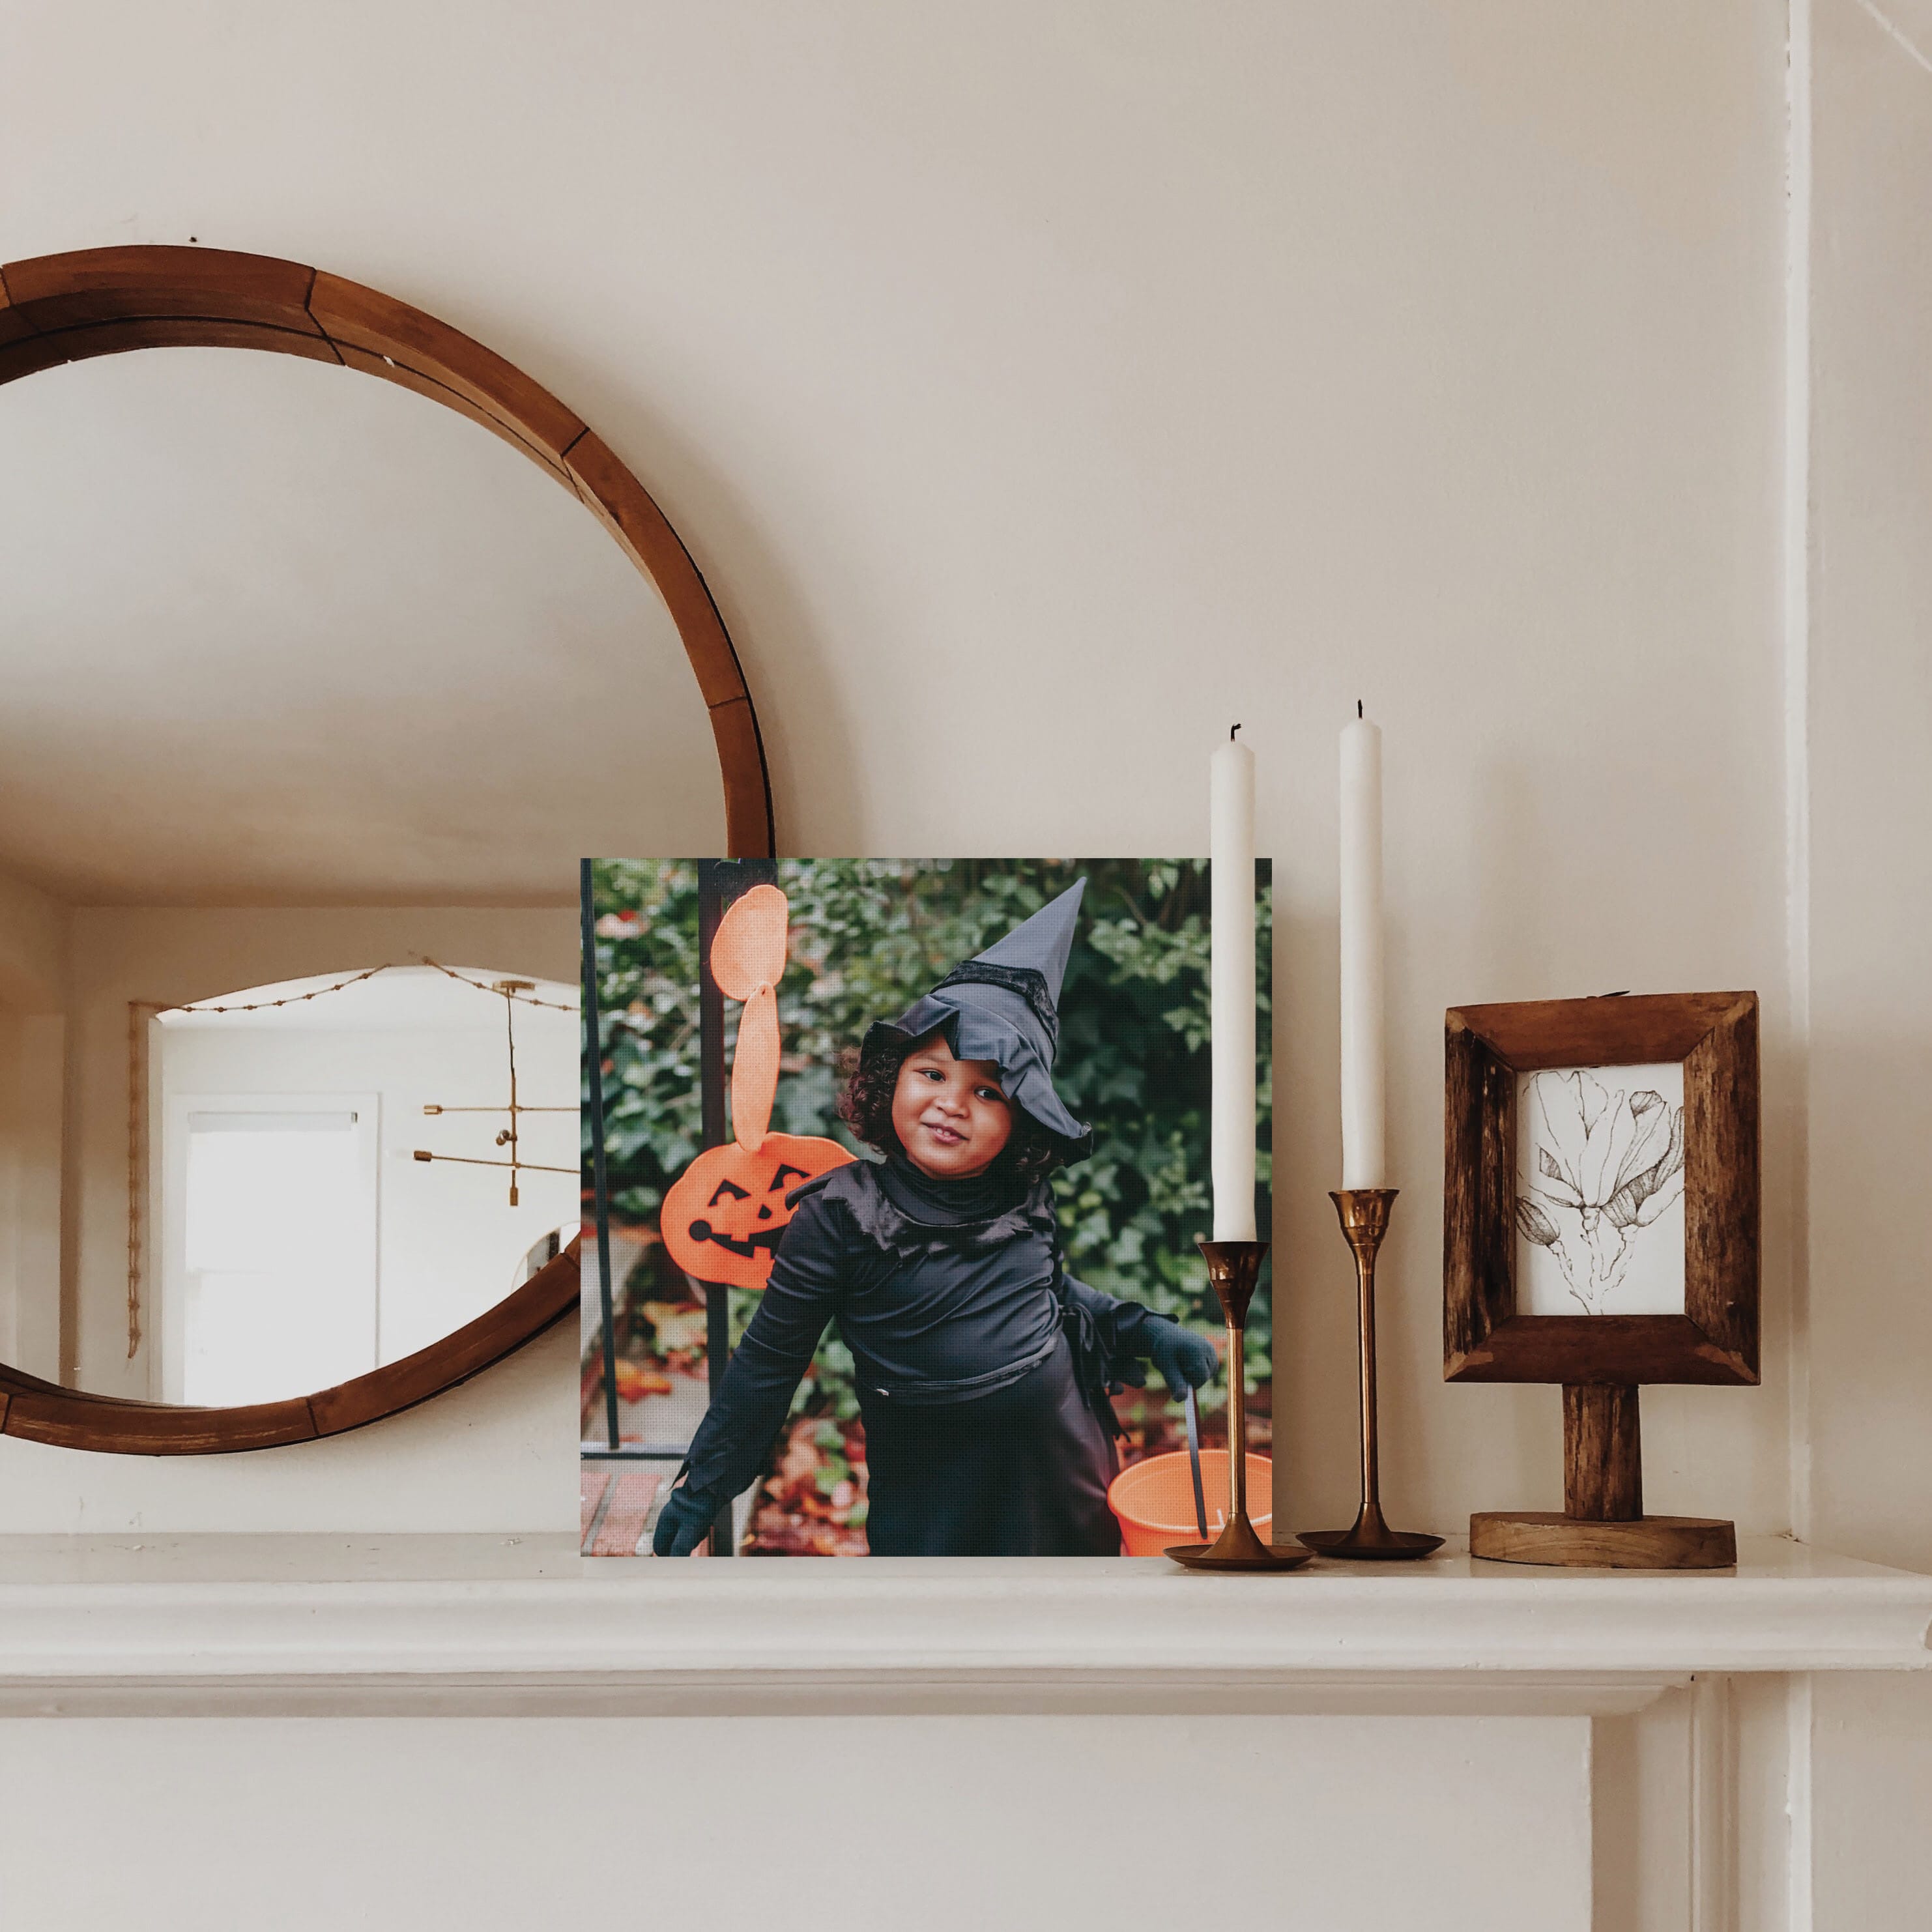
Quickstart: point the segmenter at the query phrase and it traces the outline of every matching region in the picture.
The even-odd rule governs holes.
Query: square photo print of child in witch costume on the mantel
[[[585,1551],[1117,1553],[1115,1474],[1184,1443],[1190,1387],[1204,1439],[1225,1422],[1194,1246],[1206,864],[603,860],[591,881],[612,1320],[607,1354],[585,1242]],[[723,964],[753,914],[777,951]],[[701,925],[730,995],[709,1037]],[[707,1053],[732,1094],[711,1138],[736,1134],[709,1153]],[[587,1219],[589,1155],[585,1113]],[[1242,1364],[1264,1455],[1267,1335],[1264,1294]]]

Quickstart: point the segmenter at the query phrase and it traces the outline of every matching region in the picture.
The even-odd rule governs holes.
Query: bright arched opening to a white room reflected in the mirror
[[[319,976],[162,1012],[151,1057],[164,1401],[278,1401],[413,1354],[576,1219],[574,987]]]

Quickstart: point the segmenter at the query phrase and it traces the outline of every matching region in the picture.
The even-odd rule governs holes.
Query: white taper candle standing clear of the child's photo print
[[[1341,1184],[1383,1188],[1381,732],[1360,709],[1341,734]]]

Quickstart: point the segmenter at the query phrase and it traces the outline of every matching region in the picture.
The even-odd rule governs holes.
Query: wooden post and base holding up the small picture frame
[[[1636,1385],[1563,1385],[1563,1513],[1484,1509],[1468,1553],[1571,1569],[1731,1569],[1737,1528],[1718,1517],[1646,1517]]]

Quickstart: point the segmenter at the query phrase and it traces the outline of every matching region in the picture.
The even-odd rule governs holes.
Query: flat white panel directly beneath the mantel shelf
[[[15,1719],[0,1859],[17,1922],[62,1932],[522,1932],[599,1913],[761,1932],[1113,1932],[1155,1899],[1179,1915],[1238,1895],[1240,1874],[1269,1899],[1256,1922],[1310,1932],[1387,1932],[1418,1899],[1435,1932],[1590,1924],[1582,1719],[937,1718],[920,1731],[931,1770],[908,1779],[902,1718],[815,1719],[804,1756],[788,1718]],[[1472,1752],[1501,1766],[1488,1789],[1459,1776]],[[1333,1845],[1364,1777],[1387,1814],[1360,1868]],[[60,1855],[79,1787],[116,1822],[112,1857]],[[1497,1812],[1548,1830],[1499,1857]],[[937,1843],[947,1820],[974,1830]]]

